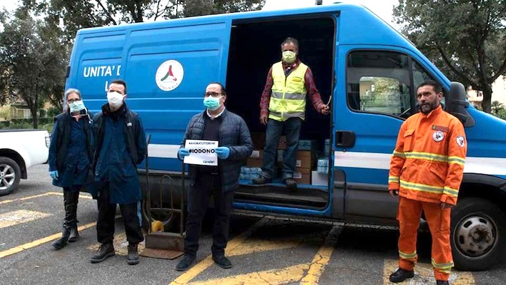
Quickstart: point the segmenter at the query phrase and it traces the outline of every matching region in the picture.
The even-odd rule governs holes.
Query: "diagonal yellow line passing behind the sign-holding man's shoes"
[[[268,219],[260,219],[260,221],[257,221],[253,226],[251,226],[249,229],[244,231],[242,234],[239,234],[234,239],[232,239],[230,242],[228,242],[227,248],[226,248],[226,254],[230,254],[233,249],[235,249],[237,246],[239,246],[243,241],[246,241],[248,239],[248,236],[251,236],[256,229],[264,226],[267,223]],[[191,279],[195,278],[198,274],[201,274],[202,271],[208,269],[209,266],[213,265],[214,261],[213,258],[210,256],[207,256],[206,259],[203,259],[203,261],[199,262],[195,266],[193,266],[191,269],[188,269],[185,273],[181,274],[176,280],[171,282],[171,285],[178,285],[178,284],[188,284]]]

